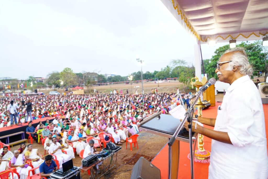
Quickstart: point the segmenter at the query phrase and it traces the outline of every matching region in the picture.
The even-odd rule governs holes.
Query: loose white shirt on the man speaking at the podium
[[[214,130],[227,132],[232,144],[211,141],[209,178],[268,178],[263,106],[249,76],[227,89]]]

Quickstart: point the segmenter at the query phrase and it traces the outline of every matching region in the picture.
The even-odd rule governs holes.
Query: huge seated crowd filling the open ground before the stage
[[[28,123],[27,134],[36,143],[40,143],[43,138],[44,150],[54,158],[57,156],[61,168],[62,163],[75,158],[75,153],[79,155],[82,150],[85,151],[83,157],[92,152],[97,153],[94,144],[99,143],[98,133],[104,133],[115,144],[121,145],[127,137],[139,133],[140,120],[159,110],[168,113],[172,106],[178,104],[178,95],[175,93],[144,94],[144,100],[141,94],[117,93],[12,96],[0,98],[0,127],[13,125],[13,122],[17,125],[19,121]],[[44,117],[55,118],[53,121],[47,119],[45,123],[40,121],[36,128],[32,126],[33,120]],[[92,140],[85,140],[93,136]],[[29,169],[42,165],[44,161],[54,165],[50,158],[42,159],[32,144],[26,146],[23,143],[13,152],[7,150],[7,147],[2,149],[0,161],[11,161],[10,167],[23,165],[17,169],[23,179],[27,177]],[[25,164],[26,160],[32,161],[31,165]],[[7,166],[7,163],[4,165]],[[41,166],[40,171],[37,169],[35,172],[42,173],[44,177],[49,173]]]

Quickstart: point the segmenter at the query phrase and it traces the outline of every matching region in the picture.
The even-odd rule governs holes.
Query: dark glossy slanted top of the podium
[[[140,125],[140,128],[150,133],[171,138],[180,123],[181,121],[172,117],[172,115],[161,114],[151,120],[145,121]],[[192,135],[196,137],[197,133],[193,132]],[[183,127],[178,133],[176,140],[189,143],[189,132]]]

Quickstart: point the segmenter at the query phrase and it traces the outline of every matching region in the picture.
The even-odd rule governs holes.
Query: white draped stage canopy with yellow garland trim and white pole
[[[268,35],[267,0],[161,0],[195,45],[195,74],[201,80],[200,44],[210,40],[257,40]]]

